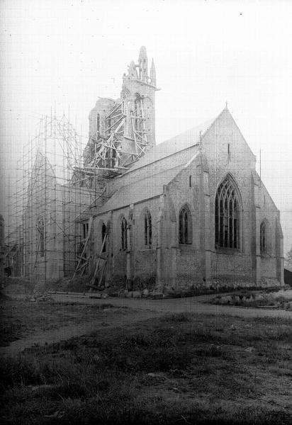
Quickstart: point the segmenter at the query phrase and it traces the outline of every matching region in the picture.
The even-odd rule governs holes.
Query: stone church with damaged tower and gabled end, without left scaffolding
[[[84,169],[71,186],[83,199],[97,195],[60,220],[74,222],[76,235],[70,266],[58,259],[50,277],[159,292],[282,285],[280,212],[228,106],[156,145],[156,91],[142,47],[120,98],[99,98],[90,112]]]

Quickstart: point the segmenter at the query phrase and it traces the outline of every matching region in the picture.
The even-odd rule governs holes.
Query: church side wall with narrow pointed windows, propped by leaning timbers
[[[94,217],[93,232],[91,234],[87,255],[91,256],[90,272],[94,271],[97,261],[96,254],[101,251],[101,228],[103,223],[109,226],[108,244],[106,253],[106,284],[130,285],[147,287],[152,285],[156,276],[156,247],[157,247],[157,198],[137,203],[133,209],[130,206],[106,212]],[[144,212],[149,210],[152,217],[152,244],[145,245],[144,239]],[[131,214],[130,214],[131,212]],[[121,218],[128,222],[128,246],[123,249],[121,244]],[[152,288],[153,289],[153,288]]]

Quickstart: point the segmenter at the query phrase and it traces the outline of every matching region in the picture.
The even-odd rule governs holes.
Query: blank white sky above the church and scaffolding
[[[141,45],[155,59],[157,143],[228,107],[292,245],[292,1],[1,0],[1,207],[41,115],[118,98]],[[74,118],[75,119],[75,118]]]

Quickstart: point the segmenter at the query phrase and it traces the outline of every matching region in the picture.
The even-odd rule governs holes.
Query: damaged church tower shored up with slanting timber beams
[[[132,61],[123,75],[120,98],[99,98],[89,114],[89,142],[79,171],[88,176],[96,170],[121,174],[155,145],[156,90],[155,64],[152,60],[149,75],[146,49],[141,47],[138,63]]]

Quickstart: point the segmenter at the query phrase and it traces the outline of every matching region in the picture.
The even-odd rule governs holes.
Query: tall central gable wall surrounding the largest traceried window
[[[208,158],[210,190],[211,283],[216,286],[254,285],[256,269],[250,243],[253,230],[251,170],[255,157],[240,130],[225,109],[203,137],[203,152]],[[225,176],[230,174],[240,191],[240,249],[215,248],[215,195]]]

